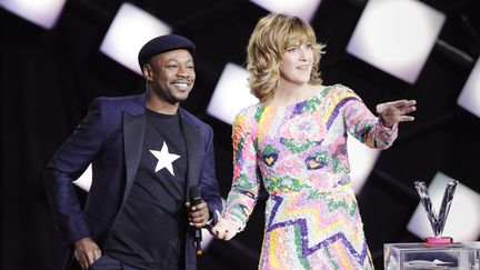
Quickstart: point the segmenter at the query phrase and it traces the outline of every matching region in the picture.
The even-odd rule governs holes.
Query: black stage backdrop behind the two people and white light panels
[[[41,182],[41,171],[76,128],[90,101],[144,90],[143,79],[99,51],[123,1],[70,0],[52,30],[0,9],[1,269],[59,269],[63,256]],[[208,116],[210,96],[227,62],[243,66],[249,36],[267,11],[247,0],[131,1],[189,37],[198,48],[197,82],[183,107],[210,123],[222,196],[231,181],[231,127]],[[413,181],[441,171],[480,192],[480,119],[457,98],[480,52],[480,1],[430,0],[447,14],[439,39],[414,84],[408,84],[346,52],[367,1],[323,0],[312,19],[327,43],[324,84],[343,83],[370,109],[379,102],[416,99],[416,121],[403,123],[394,146],[380,154],[358,196],[378,269],[383,243],[419,241],[407,223],[419,200]],[[406,18],[408,20],[408,18]],[[79,190],[82,198],[84,193]],[[260,200],[247,230],[214,241],[200,269],[256,269],[263,231]]]

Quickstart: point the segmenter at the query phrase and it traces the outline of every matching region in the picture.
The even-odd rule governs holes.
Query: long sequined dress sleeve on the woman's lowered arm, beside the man
[[[233,178],[227,198],[223,218],[239,226],[242,231],[257,203],[260,189],[260,173],[252,136],[252,119],[239,114],[233,122]]]

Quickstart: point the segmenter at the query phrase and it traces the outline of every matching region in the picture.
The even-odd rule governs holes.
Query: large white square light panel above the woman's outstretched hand
[[[347,46],[352,56],[414,83],[446,16],[416,0],[370,0]]]

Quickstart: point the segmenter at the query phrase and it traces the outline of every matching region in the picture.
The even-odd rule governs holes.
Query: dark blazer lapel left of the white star
[[[126,157],[126,188],[123,202],[128,198],[140,163],[144,131],[144,114],[131,116],[123,112],[123,149]]]

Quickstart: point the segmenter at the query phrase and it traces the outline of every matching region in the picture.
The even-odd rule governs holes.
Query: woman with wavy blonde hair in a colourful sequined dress
[[[260,103],[233,123],[233,180],[212,233],[243,230],[261,182],[269,192],[259,269],[372,269],[354,192],[347,133],[386,149],[416,101],[377,107],[374,117],[342,84],[322,86],[323,46],[301,19],[269,14],[248,44],[249,84]]]

